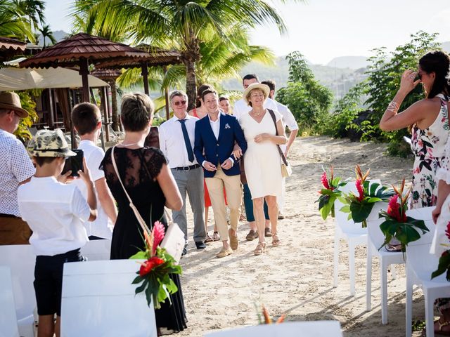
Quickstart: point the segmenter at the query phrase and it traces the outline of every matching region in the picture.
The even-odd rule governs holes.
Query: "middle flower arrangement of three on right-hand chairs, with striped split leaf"
[[[355,223],[361,223],[362,227],[367,227],[367,218],[373,209],[373,205],[378,201],[387,201],[394,194],[394,191],[379,183],[371,183],[367,179],[368,169],[366,173],[362,173],[359,165],[356,165],[356,190],[354,192],[342,193],[338,199],[345,206],[340,211],[349,213],[349,219],[353,219]]]

